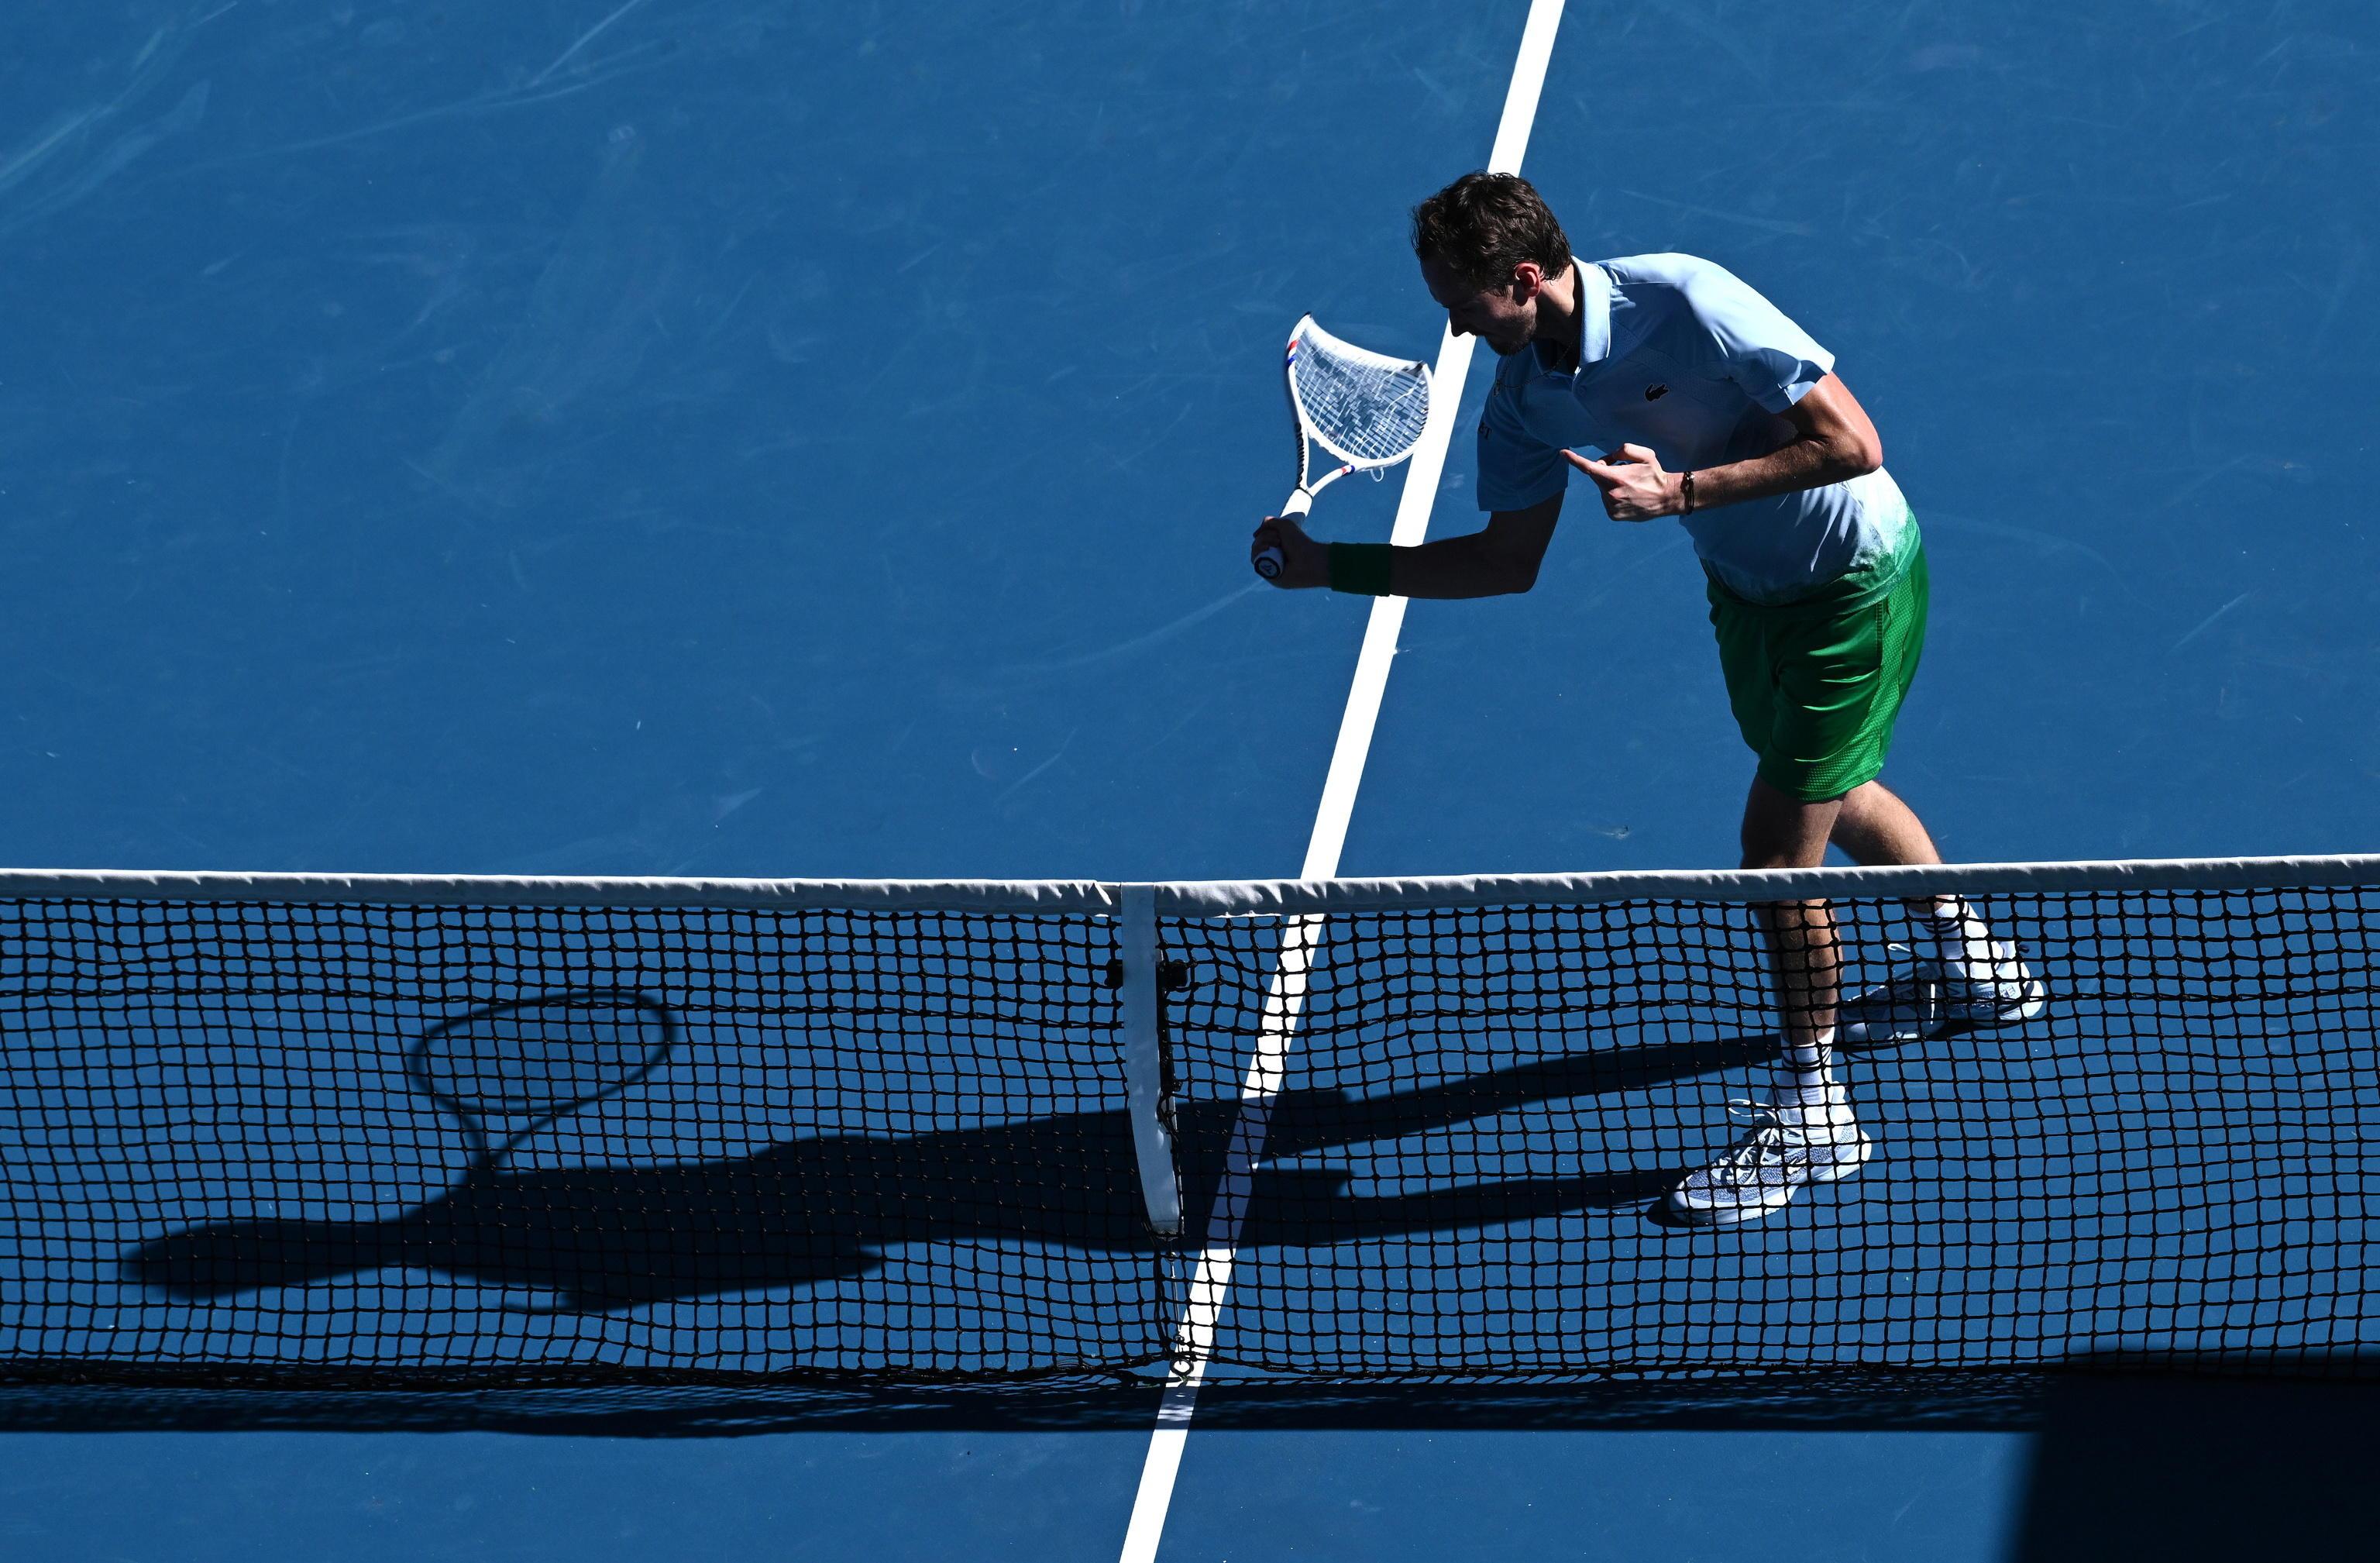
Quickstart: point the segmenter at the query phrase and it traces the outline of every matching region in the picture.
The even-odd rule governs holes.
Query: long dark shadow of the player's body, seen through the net
[[[1380,1097],[1276,1099],[1242,1247],[1447,1232],[1656,1199],[1683,1168],[1559,1170],[1399,1194],[1292,1156],[1454,1128],[1537,1101],[1645,1090],[1773,1056],[1771,1037],[1666,1042],[1547,1059]],[[1238,1101],[1178,1109],[1183,1244],[1207,1239]],[[250,1216],[150,1239],[124,1256],[143,1287],[209,1299],[390,1266],[536,1289],[557,1311],[800,1287],[862,1275],[904,1244],[1002,1242],[1154,1251],[1123,1111],[923,1135],[814,1135],[752,1156],[666,1166],[481,1168],[381,1220]]]

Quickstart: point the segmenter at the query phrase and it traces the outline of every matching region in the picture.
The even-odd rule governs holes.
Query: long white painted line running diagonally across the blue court
[[[1490,171],[1521,171],[1528,131],[1537,121],[1545,62],[1554,55],[1559,24],[1561,0],[1530,0],[1528,24],[1521,29],[1521,57],[1514,62],[1511,86],[1504,90],[1504,119],[1497,121],[1495,150],[1488,152]],[[1452,331],[1438,343],[1430,421],[1423,426],[1421,445],[1404,473],[1397,523],[1390,531],[1390,542],[1399,547],[1414,547],[1430,533],[1430,504],[1438,500],[1454,412],[1464,400],[1464,378],[1471,374],[1471,345],[1473,338],[1459,338]],[[1354,814],[1354,792],[1364,780],[1371,728],[1380,716],[1380,695],[1388,690],[1388,666],[1397,657],[1399,628],[1404,628],[1404,597],[1373,597],[1371,621],[1364,626],[1364,652],[1354,664],[1354,685],[1347,690],[1347,711],[1340,716],[1340,737],[1330,752],[1330,773],[1323,778],[1323,799],[1314,814],[1314,835],[1307,837],[1307,864],[1299,878],[1338,878],[1340,847],[1347,845],[1347,816]],[[1197,1408],[1197,1387],[1207,1377],[1214,1327],[1230,1292],[1230,1266],[1240,1251],[1240,1220],[1247,1213],[1257,1161],[1264,1156],[1264,1135],[1273,1123],[1273,1097],[1280,1094],[1288,1071],[1290,1037],[1304,1011],[1307,963],[1314,956],[1321,923],[1319,916],[1290,918],[1280,940],[1280,968],[1264,994],[1257,1054],[1240,1082],[1240,1118],[1223,1154],[1223,1178],[1216,1185],[1214,1216],[1207,1220],[1207,1247],[1200,1254],[1197,1275],[1190,1282],[1190,1306],[1183,1313],[1180,1335],[1188,1342],[1188,1366],[1166,1382],[1164,1404],[1157,1408],[1157,1430],[1150,1435],[1150,1454],[1140,1465],[1140,1494],[1133,1499],[1133,1523],[1123,1534],[1123,1563],[1154,1563],[1157,1544],[1166,1532],[1173,1477],[1180,1473],[1190,1416]]]

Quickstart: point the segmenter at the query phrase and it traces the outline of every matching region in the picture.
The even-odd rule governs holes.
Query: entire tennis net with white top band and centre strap
[[[1664,1197],[1961,895],[2037,1018]],[[0,1382],[2361,1375],[2380,859],[1100,883],[0,875]]]

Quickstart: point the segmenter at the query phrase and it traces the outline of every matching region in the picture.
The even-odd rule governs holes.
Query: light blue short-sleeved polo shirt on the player
[[[1571,481],[1564,447],[1649,445],[1668,471],[1766,457],[1795,440],[1783,416],[1835,354],[1692,255],[1578,262],[1578,366],[1537,347],[1497,359],[1480,414],[1480,509],[1523,509]],[[1680,516],[1695,552],[1752,602],[1792,602],[1854,569],[1899,576],[1916,538],[1899,485],[1873,471],[1771,500]]]

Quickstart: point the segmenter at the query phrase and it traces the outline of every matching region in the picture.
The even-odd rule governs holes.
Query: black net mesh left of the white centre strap
[[[0,952],[0,1373],[1164,1356],[1109,918],[10,902]]]

